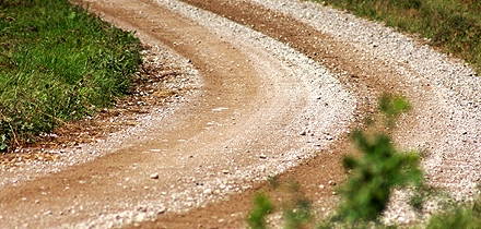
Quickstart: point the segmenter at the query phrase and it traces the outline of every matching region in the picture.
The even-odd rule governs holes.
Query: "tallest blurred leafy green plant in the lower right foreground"
[[[402,97],[384,95],[379,99],[379,110],[390,124],[408,108],[409,103]],[[420,186],[422,171],[419,169],[420,155],[399,152],[385,133],[368,135],[357,130],[352,133],[352,140],[362,156],[343,159],[344,168],[351,172],[340,189],[342,203],[333,219],[356,225],[377,220],[392,189],[408,184]]]

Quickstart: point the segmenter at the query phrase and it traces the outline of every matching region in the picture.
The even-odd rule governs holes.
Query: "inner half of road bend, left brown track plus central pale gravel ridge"
[[[202,26],[148,1],[91,8],[188,58],[202,86],[148,140],[131,136],[95,160],[2,188],[5,227],[103,228],[181,212],[285,171],[348,130],[353,97],[279,41],[214,15],[216,27]]]

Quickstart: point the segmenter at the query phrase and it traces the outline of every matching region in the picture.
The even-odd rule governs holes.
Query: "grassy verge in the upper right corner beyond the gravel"
[[[314,0],[418,33],[481,73],[480,0]]]

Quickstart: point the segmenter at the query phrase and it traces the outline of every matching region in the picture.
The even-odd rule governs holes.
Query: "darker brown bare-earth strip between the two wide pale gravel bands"
[[[350,89],[363,101],[359,107],[359,119],[366,114],[374,114],[375,100],[382,93],[402,94],[406,86],[399,85],[397,77],[390,71],[368,68],[372,62],[362,61],[352,52],[352,47],[341,44],[308,25],[305,25],[288,15],[272,12],[257,4],[246,1],[232,0],[184,0],[184,2],[225,16],[234,22],[249,26],[270,37],[288,43],[309,58],[320,62],[332,72],[347,71],[350,74],[341,76],[345,85],[354,85]],[[384,65],[379,60],[374,65]],[[376,71],[377,70],[377,71]],[[377,75],[379,77],[368,77]],[[396,88],[396,89],[395,89]],[[356,126],[354,124],[353,126]],[[316,156],[308,161],[280,174],[280,183],[298,182],[301,193],[308,200],[322,200],[320,207],[332,209],[337,204],[337,196],[332,194],[336,188],[326,185],[320,190],[318,183],[327,184],[329,181],[341,183],[344,170],[341,165],[342,156],[353,153],[349,137],[333,144],[327,154]],[[253,208],[255,193],[266,192],[271,200],[278,200],[278,205],[285,198],[285,192],[279,191],[269,182],[257,184],[241,194],[231,196],[228,201],[209,204],[206,207],[190,210],[187,214],[166,214],[153,222],[131,226],[132,228],[243,228],[249,210]],[[289,198],[289,197],[288,197]],[[242,214],[238,214],[242,213]],[[322,217],[324,213],[318,213]],[[228,219],[228,224],[224,220]],[[130,227],[129,227],[130,228]]]

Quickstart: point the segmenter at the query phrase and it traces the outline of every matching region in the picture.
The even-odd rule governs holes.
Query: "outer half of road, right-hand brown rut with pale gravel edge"
[[[228,17],[239,24],[253,27],[268,36],[286,43],[307,57],[322,63],[357,96],[357,121],[366,113],[373,113],[379,93],[389,92],[407,95],[414,109],[399,121],[395,132],[396,141],[403,148],[415,148],[427,153],[423,159],[427,183],[447,188],[455,195],[472,196],[479,181],[480,100],[479,79],[456,60],[449,60],[413,39],[395,34],[352,15],[300,1],[233,1],[233,0],[184,0],[183,2]],[[455,96],[459,95],[459,96]],[[465,104],[465,106],[462,106]],[[468,104],[468,106],[466,106]],[[469,130],[469,131],[468,131]],[[344,147],[342,146],[344,144]],[[345,152],[347,143],[332,149],[335,155]],[[462,154],[459,154],[460,149]],[[322,178],[327,161],[335,158],[314,158],[284,177],[301,180],[314,200],[329,200],[319,193],[317,185]],[[339,160],[338,160],[339,161]],[[337,171],[339,171],[339,167]],[[306,172],[310,176],[306,176]],[[254,192],[254,191],[253,191]],[[154,224],[142,226],[181,227],[189,218],[201,220],[202,225],[223,227],[211,219],[230,218],[237,227],[249,209],[253,192],[239,194],[233,201],[213,204],[196,209],[187,216],[161,217]],[[243,214],[228,207],[233,203],[247,207]],[[239,204],[242,203],[242,204]],[[325,207],[324,205],[322,207]],[[320,208],[320,207],[319,207]],[[394,207],[392,218],[403,216],[406,209]],[[411,214],[412,215],[412,214]],[[406,216],[403,216],[406,218]]]

